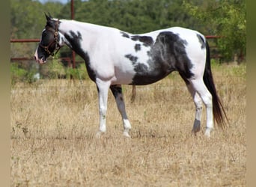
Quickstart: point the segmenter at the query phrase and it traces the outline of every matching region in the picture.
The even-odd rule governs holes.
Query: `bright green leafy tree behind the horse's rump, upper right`
[[[239,61],[243,60],[246,56],[245,0],[209,0],[202,7],[184,1],[183,4],[190,15],[204,22],[208,34],[222,37],[217,41],[222,60],[231,61],[235,56]]]

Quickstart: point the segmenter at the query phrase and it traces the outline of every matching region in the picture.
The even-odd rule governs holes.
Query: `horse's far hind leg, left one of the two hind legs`
[[[200,128],[201,128],[201,115],[202,115],[203,103],[202,103],[201,97],[192,87],[191,83],[186,82],[186,86],[195,102],[195,120],[194,120],[192,132],[196,133],[200,131]]]

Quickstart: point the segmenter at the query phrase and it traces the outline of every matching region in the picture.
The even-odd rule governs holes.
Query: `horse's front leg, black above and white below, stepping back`
[[[115,96],[115,102],[117,103],[118,110],[122,116],[122,120],[124,123],[124,136],[130,137],[129,130],[131,129],[131,124],[129,123],[129,120],[127,117],[127,111],[125,110],[122,87],[121,87],[121,85],[111,85],[110,89],[111,89],[113,95]]]

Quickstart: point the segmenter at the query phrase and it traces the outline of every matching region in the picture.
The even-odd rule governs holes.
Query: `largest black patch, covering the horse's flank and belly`
[[[177,70],[186,83],[189,83],[188,79],[193,74],[190,71],[192,63],[186,55],[186,44],[186,40],[182,40],[177,34],[171,31],[163,31],[159,33],[156,42],[147,52],[149,67],[138,63],[138,58],[126,55],[132,61],[136,72],[131,85],[147,85],[157,82],[174,70]]]

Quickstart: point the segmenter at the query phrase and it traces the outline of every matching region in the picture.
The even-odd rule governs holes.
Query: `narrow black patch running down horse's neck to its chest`
[[[70,48],[73,49],[78,55],[80,55],[85,60],[85,66],[88,72],[88,75],[92,81],[95,82],[96,75],[94,73],[94,70],[91,70],[90,66],[90,57],[87,52],[85,52],[81,47],[82,42],[82,35],[79,31],[75,33],[74,31],[70,31],[68,33],[64,34],[64,37],[68,40],[70,43]]]

